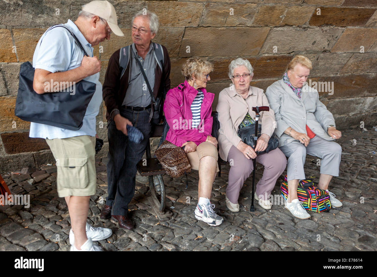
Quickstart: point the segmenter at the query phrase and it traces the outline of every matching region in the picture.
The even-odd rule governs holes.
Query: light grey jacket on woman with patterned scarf
[[[275,112],[275,135],[279,140],[279,147],[295,139],[284,131],[288,127],[300,133],[307,133],[306,125],[320,138],[333,141],[327,134],[327,126],[335,125],[334,116],[325,105],[319,101],[317,90],[304,85],[301,99],[281,79],[271,84],[266,90],[268,103]]]

